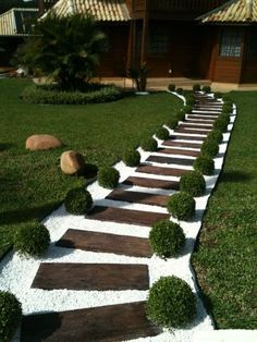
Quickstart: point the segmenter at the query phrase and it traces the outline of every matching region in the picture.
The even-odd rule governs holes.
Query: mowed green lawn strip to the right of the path
[[[257,93],[238,107],[193,265],[219,329],[257,329]]]

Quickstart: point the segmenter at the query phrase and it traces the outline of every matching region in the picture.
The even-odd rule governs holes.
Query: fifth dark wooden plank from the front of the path
[[[138,193],[138,192],[127,192],[123,190],[114,190],[106,197],[107,199],[121,200],[128,203],[139,203],[149,206],[160,206],[167,208],[169,196]]]

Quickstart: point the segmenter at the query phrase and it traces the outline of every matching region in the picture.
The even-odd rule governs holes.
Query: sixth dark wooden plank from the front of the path
[[[162,190],[179,190],[180,183],[175,181],[162,181],[155,179],[145,179],[139,176],[128,176],[122,184],[132,186],[142,186]]]

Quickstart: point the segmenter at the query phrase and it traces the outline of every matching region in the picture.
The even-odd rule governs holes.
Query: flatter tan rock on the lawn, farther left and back
[[[26,148],[30,150],[56,148],[62,145],[59,138],[49,134],[34,134],[26,139]]]

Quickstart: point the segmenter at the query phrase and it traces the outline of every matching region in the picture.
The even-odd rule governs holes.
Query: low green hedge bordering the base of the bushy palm
[[[97,90],[62,91],[54,87],[29,86],[22,93],[27,103],[42,105],[86,105],[115,101],[122,98],[122,90],[114,85],[105,85]]]

